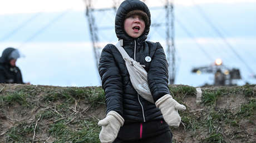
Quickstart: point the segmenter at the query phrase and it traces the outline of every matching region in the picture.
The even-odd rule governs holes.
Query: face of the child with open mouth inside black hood
[[[132,38],[138,38],[145,30],[145,22],[141,16],[134,15],[125,19],[125,32]]]

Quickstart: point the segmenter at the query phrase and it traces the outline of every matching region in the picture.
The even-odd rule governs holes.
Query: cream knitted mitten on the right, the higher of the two
[[[181,118],[178,110],[186,110],[186,107],[184,105],[179,104],[169,94],[166,94],[158,99],[155,104],[156,107],[160,109],[165,122],[169,126],[179,127]]]

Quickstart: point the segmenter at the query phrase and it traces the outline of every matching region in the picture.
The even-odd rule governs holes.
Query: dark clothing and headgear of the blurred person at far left
[[[16,49],[7,48],[3,51],[2,57],[0,57],[0,83],[8,84],[24,84],[22,80],[21,70],[18,67],[12,67],[9,64],[9,55]]]

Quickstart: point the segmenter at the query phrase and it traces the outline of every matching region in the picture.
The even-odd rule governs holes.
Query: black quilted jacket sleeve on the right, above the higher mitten
[[[155,101],[165,94],[170,94],[168,87],[168,62],[164,49],[158,42],[156,43],[156,51],[147,73],[147,82]]]

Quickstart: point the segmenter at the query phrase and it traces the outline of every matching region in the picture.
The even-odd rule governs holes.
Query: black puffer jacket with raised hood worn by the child
[[[149,17],[144,33],[139,38],[132,38],[124,30],[124,20],[132,10],[144,11]],[[138,0],[126,0],[117,9],[115,31],[117,38],[124,40],[124,49],[131,58],[145,65],[148,73],[148,84],[154,100],[165,94],[170,94],[168,88],[168,63],[164,49],[160,43],[146,42],[150,30],[150,11],[146,4]],[[151,57],[151,62],[146,62],[145,57]],[[125,61],[115,45],[107,44],[101,53],[99,73],[102,88],[105,91],[107,113],[111,110],[119,113],[125,124],[132,122],[146,122],[163,120],[163,116],[155,104],[150,103],[137,94],[132,87]]]

